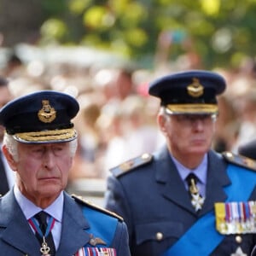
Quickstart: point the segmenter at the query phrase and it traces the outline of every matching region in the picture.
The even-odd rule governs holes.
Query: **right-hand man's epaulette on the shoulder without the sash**
[[[131,170],[134,170],[138,166],[143,166],[151,162],[152,159],[152,154],[145,153],[131,160],[127,160],[124,163],[120,164],[119,166],[113,167],[112,169],[110,169],[110,172],[113,173],[113,176],[119,177]]]

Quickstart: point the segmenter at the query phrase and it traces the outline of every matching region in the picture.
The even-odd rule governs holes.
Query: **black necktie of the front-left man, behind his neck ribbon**
[[[45,231],[47,229],[47,213],[46,212],[38,212],[38,214],[35,215],[35,218],[38,219],[38,223],[39,223],[39,228],[42,231],[43,235],[45,234]],[[40,242],[40,245],[43,244],[44,239],[45,242],[47,243],[47,246],[49,247],[49,254],[50,255],[55,255],[55,243],[52,237],[51,232],[49,232],[48,236],[44,236],[44,239],[42,236],[40,236],[38,234],[38,232],[36,232],[36,236],[38,238],[38,241]]]

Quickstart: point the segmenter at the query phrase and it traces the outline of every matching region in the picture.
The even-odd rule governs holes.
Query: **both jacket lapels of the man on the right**
[[[207,198],[199,214],[209,212],[214,207],[214,202],[224,201],[226,198],[224,186],[230,183],[225,169],[226,165],[221,156],[210,151],[208,154],[207,172]],[[198,215],[192,207],[189,193],[184,188],[183,181],[177,172],[177,168],[172,162],[167,148],[162,148],[155,157],[156,182],[159,183],[161,194],[166,199],[183,207],[186,211]]]

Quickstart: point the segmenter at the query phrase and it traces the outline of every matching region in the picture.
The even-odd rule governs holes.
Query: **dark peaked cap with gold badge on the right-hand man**
[[[159,97],[169,113],[218,113],[216,96],[225,87],[224,78],[217,73],[191,71],[154,81],[149,94]]]

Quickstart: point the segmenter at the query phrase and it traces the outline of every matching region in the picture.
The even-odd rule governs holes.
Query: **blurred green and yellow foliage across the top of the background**
[[[194,51],[207,68],[254,56],[256,0],[44,0],[44,11],[44,44],[109,49],[143,63],[163,44],[167,61]]]

